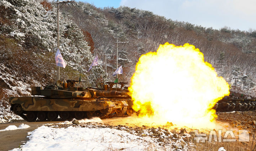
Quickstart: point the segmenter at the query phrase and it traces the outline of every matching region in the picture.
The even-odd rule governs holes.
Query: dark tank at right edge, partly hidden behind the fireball
[[[246,95],[230,91],[230,95],[218,101],[214,109],[217,112],[252,111],[256,110],[256,99],[249,99]]]

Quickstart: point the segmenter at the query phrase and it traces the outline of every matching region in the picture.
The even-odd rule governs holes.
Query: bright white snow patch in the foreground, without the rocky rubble
[[[28,134],[30,135],[28,136],[29,141],[12,151],[172,150],[172,146],[160,146],[156,139],[149,136],[142,137],[124,130],[93,127],[92,125],[86,125],[86,127],[70,125],[67,128],[43,125]],[[184,148],[183,150],[187,149]]]

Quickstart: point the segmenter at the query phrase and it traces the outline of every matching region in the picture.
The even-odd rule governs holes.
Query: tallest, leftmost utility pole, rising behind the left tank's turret
[[[76,4],[75,1],[70,1],[70,0],[68,0],[68,1],[59,1],[59,0],[57,0],[57,45],[58,45],[58,49],[59,49],[59,9],[63,5],[66,5],[66,4],[69,5],[69,3],[72,4],[72,5],[73,5],[73,3]],[[62,4],[62,6],[59,7],[59,4]],[[59,70],[60,70],[60,67],[58,66],[58,69],[57,69],[57,80],[60,80]]]

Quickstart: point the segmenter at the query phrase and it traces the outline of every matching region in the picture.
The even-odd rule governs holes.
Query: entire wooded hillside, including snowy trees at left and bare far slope
[[[29,95],[31,86],[55,82],[56,5],[46,0],[2,0],[0,33],[0,106],[7,108],[10,96]],[[116,58],[107,56],[105,73],[105,52],[116,54],[117,37],[129,42],[118,45],[118,64],[124,72],[121,81],[129,82],[139,57],[156,51],[160,44],[190,43],[203,52],[205,61],[233,91],[247,94],[250,83],[255,96],[256,31],[217,30],[136,8],[100,9],[83,2],[60,9],[60,52],[67,63],[60,70],[61,78],[78,80],[81,75],[88,81],[84,87],[112,81]],[[95,55],[100,65],[87,72]]]

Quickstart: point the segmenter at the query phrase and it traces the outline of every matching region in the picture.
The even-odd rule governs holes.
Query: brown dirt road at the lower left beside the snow
[[[30,126],[27,129],[7,130],[0,131],[0,151],[8,151],[20,147],[24,142],[28,141],[27,133],[47,123],[60,123],[56,122],[18,122],[18,123],[1,123],[0,130],[7,128],[9,125],[19,126],[24,123]]]

